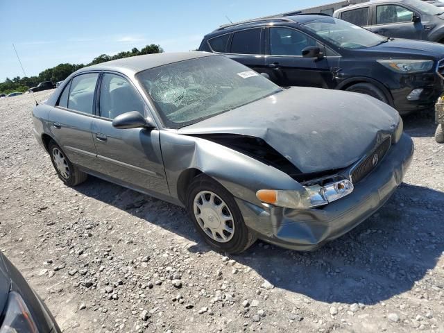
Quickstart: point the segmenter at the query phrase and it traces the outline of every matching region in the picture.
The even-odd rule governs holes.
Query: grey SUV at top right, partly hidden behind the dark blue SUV
[[[341,8],[333,16],[386,37],[444,42],[444,8],[420,0],[380,0]]]

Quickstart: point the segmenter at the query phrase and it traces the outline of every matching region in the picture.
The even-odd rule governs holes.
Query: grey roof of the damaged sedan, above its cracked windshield
[[[171,52],[146,54],[144,56],[135,56],[117,60],[102,62],[101,64],[83,67],[77,72],[82,71],[119,71],[125,74],[137,74],[139,71],[168,65],[173,62],[190,60],[202,57],[214,56],[208,52]]]

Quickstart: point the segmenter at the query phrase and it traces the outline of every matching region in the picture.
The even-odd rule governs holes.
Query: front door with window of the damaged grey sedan
[[[168,195],[159,130],[112,126],[112,119],[125,112],[138,111],[146,117],[146,106],[135,87],[123,76],[105,73],[98,104],[92,134],[101,173],[135,189]]]

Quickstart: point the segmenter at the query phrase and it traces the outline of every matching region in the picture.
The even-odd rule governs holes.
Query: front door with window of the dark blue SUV
[[[302,57],[307,46],[320,46],[309,35],[293,28],[272,27],[268,33],[267,74],[273,82],[285,86],[334,87],[334,76],[327,58]]]

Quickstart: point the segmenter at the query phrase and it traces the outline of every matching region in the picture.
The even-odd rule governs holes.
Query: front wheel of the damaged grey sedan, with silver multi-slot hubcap
[[[191,182],[187,211],[198,233],[215,250],[241,253],[256,241],[232,194],[210,177],[200,175]]]

